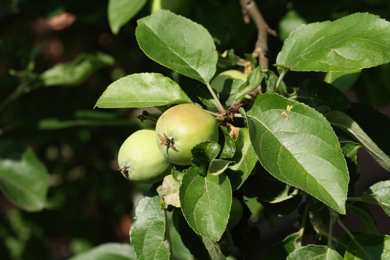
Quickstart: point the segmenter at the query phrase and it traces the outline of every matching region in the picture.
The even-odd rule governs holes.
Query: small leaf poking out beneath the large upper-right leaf
[[[332,84],[335,88],[346,94],[356,80],[358,80],[361,72],[361,69],[357,69],[356,71],[332,71],[326,73],[324,81]]]

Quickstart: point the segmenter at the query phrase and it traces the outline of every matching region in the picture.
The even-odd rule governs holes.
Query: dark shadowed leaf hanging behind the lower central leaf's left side
[[[173,210],[172,219],[174,221],[175,228],[181,236],[183,244],[190,250],[191,254],[196,259],[209,260],[209,253],[203,244],[203,239],[193,231],[188,225],[180,209],[175,208]]]

